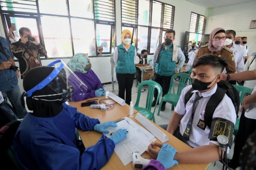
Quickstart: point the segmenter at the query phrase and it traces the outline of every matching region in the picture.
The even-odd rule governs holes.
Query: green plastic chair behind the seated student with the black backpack
[[[241,107],[241,103],[242,103],[242,99],[243,99],[243,96],[244,96],[244,93],[249,93],[251,94],[252,93],[252,89],[248,88],[248,87],[245,87],[245,86],[240,86],[240,85],[233,85],[236,90],[238,91],[239,95],[240,95],[240,104],[239,104],[239,108]],[[236,135],[237,135],[237,132],[238,132],[238,128],[239,128],[239,123],[240,123],[240,119],[237,118],[236,119],[236,124],[235,124],[235,127],[234,127],[234,141],[236,140]]]

